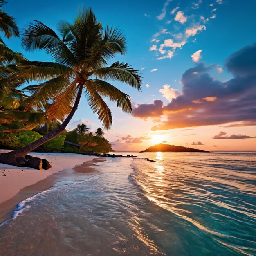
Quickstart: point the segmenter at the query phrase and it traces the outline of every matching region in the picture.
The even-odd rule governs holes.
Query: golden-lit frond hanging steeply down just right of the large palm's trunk
[[[102,121],[103,128],[109,129],[112,125],[112,113],[107,103],[101,98],[91,82],[86,83],[86,96],[90,108],[94,113],[97,112],[99,121]]]

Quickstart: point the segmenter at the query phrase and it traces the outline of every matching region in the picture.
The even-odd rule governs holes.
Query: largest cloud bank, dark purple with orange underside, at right
[[[256,124],[256,43],[235,52],[225,61],[225,69],[233,77],[228,81],[214,79],[209,73],[218,65],[203,63],[182,75],[182,95],[164,106],[160,99],[134,108],[133,115],[153,118],[151,130],[169,130],[196,126]],[[196,73],[195,73],[196,72]],[[207,101],[206,99],[213,99]],[[199,104],[195,101],[199,100]],[[157,119],[163,117],[159,122]]]

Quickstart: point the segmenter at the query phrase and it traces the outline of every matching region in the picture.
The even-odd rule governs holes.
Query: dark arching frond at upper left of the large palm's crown
[[[22,46],[27,51],[44,49],[56,62],[74,67],[76,58],[58,35],[43,22],[35,20],[22,32]]]

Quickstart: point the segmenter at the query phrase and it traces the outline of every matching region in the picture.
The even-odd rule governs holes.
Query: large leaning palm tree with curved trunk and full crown
[[[32,81],[29,85],[31,104],[46,106],[49,120],[59,117],[62,124],[37,141],[0,155],[0,162],[23,165],[25,155],[63,132],[79,106],[82,93],[96,112],[103,128],[112,125],[112,114],[103,97],[117,103],[126,113],[132,112],[130,96],[108,81],[121,81],[141,90],[141,76],[128,65],[107,65],[115,54],[125,54],[126,39],[119,29],[103,27],[91,9],[79,13],[74,24],[62,21],[58,25],[60,36],[40,21],[34,21],[23,31],[22,45],[28,51],[45,50],[55,62],[27,62],[25,71]],[[108,81],[106,81],[108,80]]]

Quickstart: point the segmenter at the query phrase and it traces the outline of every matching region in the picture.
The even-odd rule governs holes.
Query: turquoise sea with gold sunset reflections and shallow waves
[[[0,255],[256,255],[256,153],[136,155],[21,202]]]

